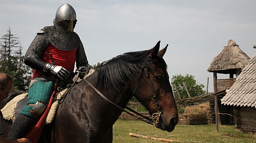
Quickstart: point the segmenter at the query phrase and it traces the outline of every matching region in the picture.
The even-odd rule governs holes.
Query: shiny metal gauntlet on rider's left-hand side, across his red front
[[[62,66],[54,65],[52,63],[46,63],[43,69],[46,71],[50,71],[51,74],[62,80],[69,78],[69,71]]]

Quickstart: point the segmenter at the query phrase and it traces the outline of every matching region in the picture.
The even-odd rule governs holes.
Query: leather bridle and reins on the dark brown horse
[[[125,107],[126,109],[130,110],[131,112],[137,114],[137,115],[140,116],[140,117],[137,117],[137,116],[135,116],[134,114],[131,114],[130,112],[126,111],[125,109],[119,107],[118,105],[116,105],[115,103],[113,103],[112,101],[110,101],[109,99],[107,99],[107,98],[106,98],[102,93],[100,93],[100,91],[99,91],[97,88],[95,88],[88,80],[86,80],[86,79],[83,79],[83,80],[84,80],[85,82],[87,82],[87,84],[89,84],[89,85],[91,86],[91,88],[93,88],[93,89],[94,89],[104,100],[106,100],[108,103],[111,103],[112,105],[115,105],[115,107],[121,109],[122,111],[126,112],[127,114],[129,114],[129,115],[131,115],[131,116],[134,116],[135,118],[138,118],[139,120],[142,120],[143,122],[146,122],[146,123],[148,123],[148,124],[154,124],[154,125],[156,126],[156,125],[159,123],[159,119],[160,119],[160,116],[161,116],[161,113],[162,113],[163,110],[162,110],[162,108],[161,108],[161,106],[160,106],[160,103],[159,103],[159,101],[158,101],[158,99],[157,99],[157,96],[156,96],[156,93],[155,93],[155,91],[154,91],[152,82],[151,82],[151,80],[150,80],[150,74],[149,74],[149,72],[148,72],[148,67],[143,67],[143,68],[141,69],[140,74],[139,74],[139,77],[138,77],[137,82],[136,82],[136,84],[135,84],[135,87],[134,87],[134,89],[132,90],[132,96],[135,95],[135,92],[136,92],[136,90],[137,90],[137,88],[138,88],[139,82],[141,81],[141,78],[142,78],[142,76],[143,76],[144,71],[145,71],[145,76],[148,78],[148,81],[149,81],[149,84],[150,84],[150,88],[151,88],[151,91],[152,91],[152,93],[153,93],[153,98],[154,98],[154,101],[155,101],[156,106],[157,106],[157,109],[158,109],[158,112],[157,112],[157,113],[154,113],[154,114],[152,115],[152,119],[149,118],[149,117],[147,117],[147,116],[143,116],[142,114],[138,113],[137,111],[135,111],[135,110],[133,110],[133,109],[131,109],[131,108],[129,108],[129,107],[126,106],[126,107]],[[142,118],[141,118],[141,117],[142,117]]]

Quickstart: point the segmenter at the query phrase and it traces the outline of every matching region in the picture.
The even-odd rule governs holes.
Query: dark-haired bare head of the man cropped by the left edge
[[[9,95],[13,81],[8,74],[0,73],[0,101]]]

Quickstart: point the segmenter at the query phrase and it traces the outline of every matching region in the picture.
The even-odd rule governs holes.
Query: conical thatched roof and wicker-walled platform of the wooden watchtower
[[[227,46],[224,47],[207,69],[207,71],[213,72],[215,93],[230,88],[235,81],[234,74],[237,77],[250,59],[234,40],[229,40]],[[217,80],[217,73],[230,74],[230,79]]]

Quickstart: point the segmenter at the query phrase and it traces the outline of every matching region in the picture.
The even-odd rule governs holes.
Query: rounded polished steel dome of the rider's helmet
[[[59,23],[60,21],[67,20],[73,23],[76,21],[76,11],[70,4],[62,4],[56,11],[55,19],[53,20],[54,24]]]

